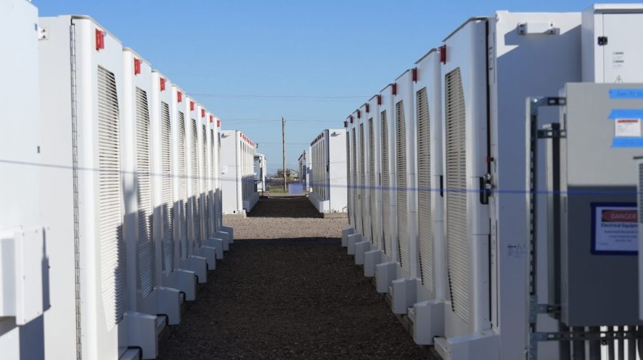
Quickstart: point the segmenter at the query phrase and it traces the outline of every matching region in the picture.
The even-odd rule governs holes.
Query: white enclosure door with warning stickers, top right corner
[[[607,43],[599,46],[603,56],[604,83],[643,81],[643,47],[632,41],[634,34],[643,34],[643,14],[602,14],[603,27],[597,36]],[[594,38],[594,46],[598,46]]]

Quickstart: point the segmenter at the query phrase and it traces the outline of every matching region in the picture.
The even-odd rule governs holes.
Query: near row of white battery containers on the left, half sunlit
[[[17,156],[6,169],[16,176],[3,178],[2,248],[22,280],[3,280],[0,349],[10,359],[127,359],[136,348],[153,359],[231,241],[216,200],[218,120],[92,19],[2,6],[3,34],[14,34],[2,43],[21,49],[4,60],[14,61],[6,78],[31,94],[3,98],[36,115],[2,124],[3,153]]]

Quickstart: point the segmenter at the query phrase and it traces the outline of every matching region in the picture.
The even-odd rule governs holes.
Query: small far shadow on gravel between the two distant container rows
[[[261,197],[247,217],[322,217],[319,211],[310,203],[308,197],[302,195],[279,195]]]

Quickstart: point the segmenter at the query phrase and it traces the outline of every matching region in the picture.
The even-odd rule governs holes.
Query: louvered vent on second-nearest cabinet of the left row
[[[138,267],[141,292],[145,297],[154,287],[154,251],[151,246],[151,165],[149,155],[149,109],[147,93],[136,88],[136,195],[139,200]]]

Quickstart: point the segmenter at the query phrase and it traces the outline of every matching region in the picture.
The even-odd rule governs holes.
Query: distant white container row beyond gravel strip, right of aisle
[[[327,129],[310,143],[308,197],[319,212],[347,211],[346,136],[344,129]]]

